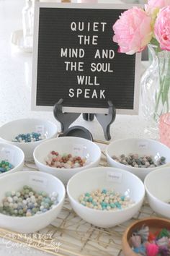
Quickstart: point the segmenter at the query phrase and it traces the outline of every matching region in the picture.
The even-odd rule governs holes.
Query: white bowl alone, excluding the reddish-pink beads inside
[[[75,150],[78,150],[80,153],[79,156],[81,156],[81,158],[86,158],[86,164],[82,167],[66,169],[47,166],[45,158],[52,150],[58,151],[60,155],[64,153],[75,155]],[[35,164],[40,171],[53,174],[66,184],[68,180],[79,171],[82,171],[85,168],[98,166],[101,150],[94,142],[81,137],[58,137],[38,145],[37,148],[35,148],[33,155]]]

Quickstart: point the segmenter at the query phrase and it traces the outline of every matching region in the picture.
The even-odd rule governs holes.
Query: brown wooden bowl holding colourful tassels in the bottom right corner
[[[122,236],[125,256],[170,255],[170,221],[165,218],[143,218],[133,222]]]

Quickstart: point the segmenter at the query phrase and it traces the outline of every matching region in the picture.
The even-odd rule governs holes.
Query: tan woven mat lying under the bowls
[[[100,165],[107,166],[104,155],[102,156]],[[33,163],[25,164],[24,168],[32,168],[34,171],[36,169]],[[71,209],[68,198],[66,198],[64,207],[58,218],[45,229],[35,233],[37,234],[35,237],[38,237],[38,234],[50,234],[51,239],[45,241],[36,238],[32,239],[30,241],[30,247],[58,256],[122,256],[121,240],[125,229],[134,221],[150,216],[156,216],[156,214],[153,213],[153,210],[149,208],[148,203],[145,201],[140,212],[130,221],[126,221],[113,228],[102,229],[92,226],[79,218]],[[17,234],[0,229],[1,237],[9,233]],[[14,239],[10,239],[19,243],[27,242],[27,238],[24,236],[22,238],[15,236]],[[52,245],[58,244],[59,242],[61,246],[58,248]]]

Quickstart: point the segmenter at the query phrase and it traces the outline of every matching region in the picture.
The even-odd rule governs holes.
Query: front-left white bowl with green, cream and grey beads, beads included
[[[32,233],[48,226],[63,207],[66,189],[55,176],[20,171],[0,177],[0,226]]]

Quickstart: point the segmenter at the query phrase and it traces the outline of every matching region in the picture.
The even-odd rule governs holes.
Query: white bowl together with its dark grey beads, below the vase
[[[115,140],[107,146],[106,155],[109,166],[130,171],[142,181],[151,171],[170,163],[170,148],[149,139]]]

